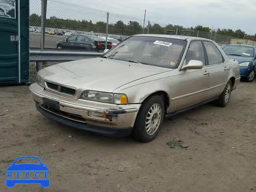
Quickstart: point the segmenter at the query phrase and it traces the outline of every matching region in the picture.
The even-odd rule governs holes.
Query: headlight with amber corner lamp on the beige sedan
[[[80,96],[81,99],[98,101],[112,104],[128,104],[128,99],[125,94],[114,94],[98,91],[85,90]]]

